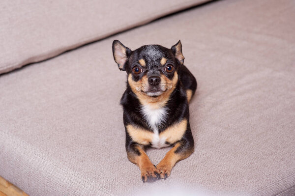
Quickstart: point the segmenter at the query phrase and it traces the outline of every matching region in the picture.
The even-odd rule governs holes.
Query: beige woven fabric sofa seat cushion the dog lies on
[[[292,190],[294,18],[293,0],[216,1],[0,76],[0,175],[31,196]],[[143,184],[127,160],[119,106],[126,74],[114,62],[114,39],[131,49],[181,39],[198,81],[195,152],[166,181]],[[158,164],[168,149],[147,153]]]

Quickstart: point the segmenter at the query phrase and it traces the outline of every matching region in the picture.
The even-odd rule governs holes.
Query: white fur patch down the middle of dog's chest
[[[154,109],[146,105],[143,106],[142,113],[147,120],[149,127],[153,130],[153,139],[151,141],[151,146],[154,148],[162,148],[168,146],[168,144],[165,143],[166,138],[159,137],[158,130],[158,126],[160,126],[161,123],[163,123],[163,121],[167,118],[167,110],[165,108]]]

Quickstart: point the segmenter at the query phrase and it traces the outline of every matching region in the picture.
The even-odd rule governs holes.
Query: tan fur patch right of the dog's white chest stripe
[[[168,141],[169,143],[175,143],[182,138],[184,132],[186,131],[186,127],[187,127],[187,120],[183,119],[179,123],[176,123],[168,127],[165,131],[161,132],[159,134],[159,137],[160,138],[165,137],[166,141]]]

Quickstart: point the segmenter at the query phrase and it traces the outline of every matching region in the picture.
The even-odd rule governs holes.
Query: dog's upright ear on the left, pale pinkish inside
[[[125,63],[130,53],[131,50],[125,47],[119,40],[113,41],[113,56],[120,70],[125,71]]]

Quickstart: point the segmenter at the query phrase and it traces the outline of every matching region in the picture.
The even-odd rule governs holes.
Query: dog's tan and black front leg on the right
[[[188,130],[187,130],[188,131]],[[189,140],[187,139],[189,136]],[[192,135],[190,130],[185,134],[184,138],[177,143],[174,147],[166,154],[164,159],[157,165],[160,178],[166,178],[170,175],[171,169],[174,165],[187,157],[189,157],[194,152],[194,140],[192,140]]]

